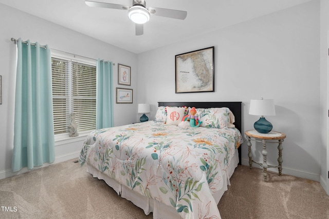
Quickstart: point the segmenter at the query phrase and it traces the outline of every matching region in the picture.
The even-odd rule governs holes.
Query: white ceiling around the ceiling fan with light
[[[0,0],[0,3],[133,53],[141,53],[309,1],[147,0],[147,8],[187,11],[187,17],[182,21],[151,15],[141,36],[135,35],[135,24],[126,10],[92,8],[84,0]],[[132,0],[96,2],[132,6]]]

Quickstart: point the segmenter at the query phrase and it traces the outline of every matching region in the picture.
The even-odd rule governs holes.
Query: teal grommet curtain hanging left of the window
[[[55,159],[51,55],[45,47],[17,41],[13,172]]]

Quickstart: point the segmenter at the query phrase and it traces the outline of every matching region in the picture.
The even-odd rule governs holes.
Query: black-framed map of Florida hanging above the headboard
[[[175,55],[176,93],[214,91],[214,47]]]

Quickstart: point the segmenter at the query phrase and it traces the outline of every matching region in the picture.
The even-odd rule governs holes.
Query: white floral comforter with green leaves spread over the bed
[[[182,218],[220,218],[212,194],[223,187],[223,175],[241,143],[236,128],[149,121],[90,133],[79,163],[174,207]]]

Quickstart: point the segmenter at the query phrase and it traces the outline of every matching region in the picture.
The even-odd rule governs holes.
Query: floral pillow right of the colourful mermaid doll
[[[207,128],[226,128],[230,124],[230,110],[227,107],[222,108],[197,108],[196,116],[198,116],[201,127]],[[230,127],[233,124],[230,125]]]

